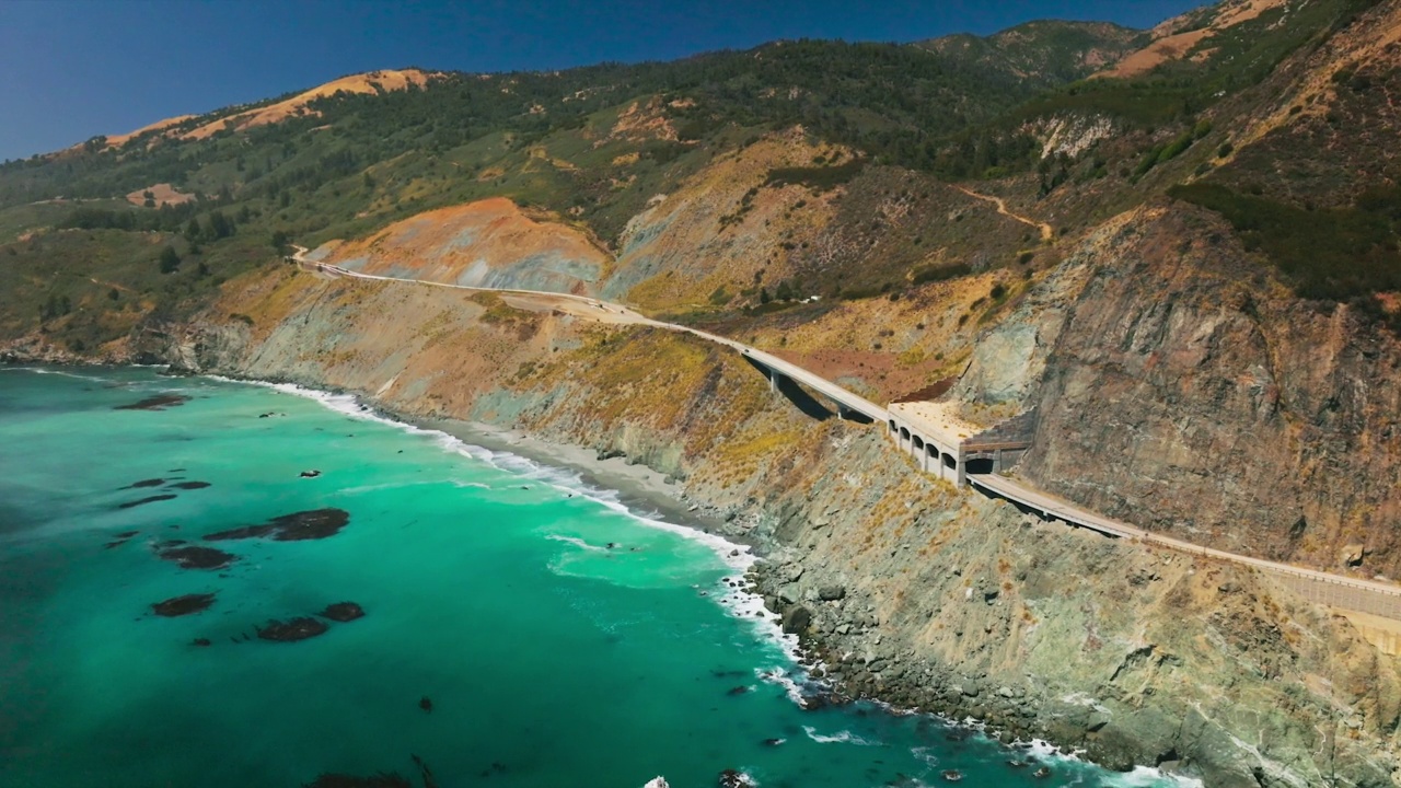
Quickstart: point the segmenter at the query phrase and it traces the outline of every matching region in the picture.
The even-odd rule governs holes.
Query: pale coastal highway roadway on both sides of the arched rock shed
[[[820,393],[821,395],[841,402],[842,405],[862,412],[866,416],[874,419],[877,423],[884,425],[890,418],[885,408],[853,394],[836,386],[835,383],[818,377],[817,374],[786,362],[772,353],[765,353],[758,348],[751,348],[743,342],[736,342],[726,337],[719,337],[706,331],[699,331],[696,328],[689,328],[685,325],[677,325],[674,322],[661,322],[658,320],[651,320],[646,315],[637,314],[636,311],[608,301],[601,301],[588,296],[574,296],[569,293],[552,293],[545,290],[510,290],[499,287],[469,287],[465,285],[448,285],[444,282],[429,282],[423,279],[402,279],[395,276],[375,276],[373,273],[360,273],[357,271],[350,271],[340,268],[338,265],[331,265],[326,262],[315,262],[305,259],[307,250],[304,247],[294,247],[296,254],[291,255],[291,261],[297,265],[325,273],[328,276],[350,276],[354,279],[370,279],[378,282],[409,282],[416,285],[425,285],[430,287],[447,287],[454,290],[468,290],[478,293],[497,293],[507,300],[517,301],[517,306],[535,307],[535,308],[558,308],[566,314],[573,314],[583,318],[591,318],[601,322],[612,322],[619,325],[647,325],[653,328],[663,328],[667,331],[677,331],[682,334],[691,334],[706,339],[709,342],[716,342],[731,348],[745,358],[754,359],[762,366],[778,372],[779,374],[796,380],[803,386]],[[1171,538],[1160,534],[1146,531],[1143,529],[1131,526],[1128,523],[1121,523],[1118,520],[1111,520],[1108,517],[1101,517],[1093,512],[1087,512],[1055,498],[1054,495],[1034,489],[1024,484],[1020,484],[1012,478],[998,475],[998,474],[968,474],[968,482],[975,488],[992,494],[998,498],[1005,498],[1013,501],[1026,508],[1034,509],[1047,517],[1054,517],[1075,526],[1090,529],[1093,531],[1101,533],[1104,536],[1115,538],[1129,538],[1138,540],[1145,544],[1154,544],[1159,547],[1166,547],[1189,555],[1199,555],[1203,558],[1215,558],[1219,561],[1227,561],[1237,565],[1251,566],[1269,572],[1282,578],[1289,578],[1299,580],[1292,583],[1295,590],[1303,593],[1307,599],[1313,602],[1320,602],[1324,604],[1335,604],[1349,610],[1362,610],[1363,613],[1372,613],[1376,616],[1383,616],[1393,620],[1401,620],[1401,586],[1393,583],[1377,582],[1377,580],[1363,580],[1358,578],[1348,578],[1344,575],[1332,575],[1328,572],[1318,572],[1314,569],[1304,569],[1299,566],[1290,566],[1288,564],[1279,564],[1275,561],[1265,561],[1262,558],[1252,558],[1250,555],[1240,555],[1237,552],[1227,552],[1224,550],[1215,550],[1209,547],[1202,547],[1192,544],[1189,541],[1182,541],[1178,538]],[[1300,582],[1303,585],[1300,585]],[[1346,596],[1351,603],[1338,603],[1338,593],[1341,590],[1351,592]]]

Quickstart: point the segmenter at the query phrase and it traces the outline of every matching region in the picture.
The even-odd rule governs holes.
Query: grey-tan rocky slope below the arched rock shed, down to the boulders
[[[766,509],[783,547],[761,585],[811,617],[849,691],[1208,785],[1391,784],[1398,666],[1345,620],[1236,566],[955,494],[873,435],[831,449],[806,496]]]

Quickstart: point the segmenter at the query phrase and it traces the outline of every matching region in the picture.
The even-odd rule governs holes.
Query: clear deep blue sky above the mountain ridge
[[[423,66],[674,59],[776,38],[916,41],[1035,18],[1153,24],[1202,0],[0,0],[0,160]]]

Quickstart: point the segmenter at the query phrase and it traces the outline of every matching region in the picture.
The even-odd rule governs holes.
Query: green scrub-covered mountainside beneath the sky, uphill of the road
[[[922,46],[783,42],[663,64],[455,74],[426,90],[322,100],[317,116],[200,142],[147,136],[119,150],[91,144],[11,163],[0,167],[0,276],[11,283],[0,304],[4,332],[41,328],[43,307],[66,297],[81,314],[46,310],[42,330],[69,346],[92,346],[119,338],[142,314],[182,314],[206,303],[221,282],[276,259],[275,234],[303,243],[356,237],[493,195],[551,213],[616,250],[626,223],[653,195],[700,178],[771,129],[796,125],[814,149],[841,143],[864,156],[813,156],[796,170],[759,172],[754,195],[737,195],[727,216],[743,219],[745,199],[762,203],[772,201],[765,193],[783,189],[790,195],[785,216],[818,203],[831,216],[775,237],[775,262],[757,273],[744,268],[743,279],[727,282],[724,266],[696,272],[705,282],[700,297],[716,296],[709,307],[698,304],[698,285],[653,286],[649,293],[684,296],[649,299],[656,308],[700,306],[743,324],[785,307],[762,303],[780,287],[828,299],[895,297],[930,279],[1016,271],[1027,254],[1035,265],[1054,264],[1055,254],[1027,238],[1027,229],[982,224],[986,212],[950,196],[940,179],[992,177],[976,188],[1076,234],[1209,174],[1245,118],[1278,101],[1271,80],[1281,63],[1321,46],[1363,4],[1309,3],[1292,8],[1288,24],[1267,13],[1210,39],[1201,62],[1040,95],[1090,70],[1087,52],[1122,53],[1140,42],[1111,25],[1045,22]],[[1045,132],[1037,125],[1068,116],[1103,121],[1112,133],[1073,154],[1041,158]],[[1262,168],[1244,151],[1233,165],[1236,182]],[[202,195],[192,212],[203,233],[189,234],[184,217],[158,222],[150,209],[112,202],[154,182]],[[59,195],[67,202],[43,202]],[[73,223],[66,212],[77,201],[146,216],[156,227],[55,233]],[[216,210],[237,226],[231,236],[209,231]],[[978,222],[965,223],[972,216]],[[724,231],[717,226],[715,234]],[[765,222],[743,231],[765,237],[772,229]],[[184,259],[177,273],[153,271],[165,245]],[[820,255],[827,247],[841,254]],[[104,303],[112,290],[104,282],[130,296]]]

